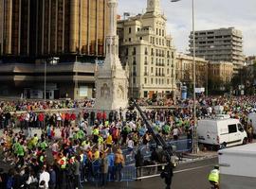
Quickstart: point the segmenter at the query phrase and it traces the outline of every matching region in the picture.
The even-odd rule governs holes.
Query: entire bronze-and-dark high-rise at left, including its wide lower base
[[[59,63],[46,69],[47,94],[91,97],[91,64],[104,57],[106,7],[107,0],[0,0],[0,60],[5,63],[0,64],[0,95],[16,95],[13,86],[28,97],[41,94],[44,62],[58,57]]]

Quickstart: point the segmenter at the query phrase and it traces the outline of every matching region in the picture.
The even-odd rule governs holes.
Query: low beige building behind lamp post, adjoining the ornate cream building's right
[[[195,58],[195,86],[198,88],[207,88],[208,80],[208,60]],[[177,54],[175,57],[176,82],[183,85],[192,85],[193,83],[193,58],[190,55]]]

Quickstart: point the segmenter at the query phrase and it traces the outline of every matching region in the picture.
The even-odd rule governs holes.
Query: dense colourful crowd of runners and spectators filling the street
[[[139,99],[138,104],[150,106],[146,101]],[[165,102],[157,105],[172,109],[145,111],[155,132],[166,140],[192,139],[192,99],[176,101],[175,107],[172,100]],[[201,97],[196,115],[210,117],[219,113],[214,107],[220,105],[223,113],[240,119],[251,132],[247,114],[254,111],[255,103],[254,96]],[[149,146],[152,137],[137,111],[86,109],[93,104],[93,100],[1,102],[0,159],[11,168],[0,173],[0,188],[80,188],[82,180],[97,180],[100,185],[121,180],[121,169],[127,163],[123,151]],[[64,110],[67,108],[70,110]],[[33,129],[41,133],[32,134]],[[153,155],[151,161],[159,162],[157,158]],[[139,150],[136,163],[143,164]]]

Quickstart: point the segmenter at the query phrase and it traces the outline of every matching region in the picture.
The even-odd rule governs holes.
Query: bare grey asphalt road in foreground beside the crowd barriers
[[[184,163],[178,165],[174,170],[174,179],[172,189],[210,189],[208,174],[214,164],[218,162],[217,158]],[[85,189],[94,189],[96,186],[85,184]],[[164,189],[164,180],[160,177],[145,179],[132,182],[114,182],[109,183],[105,188],[109,189]]]

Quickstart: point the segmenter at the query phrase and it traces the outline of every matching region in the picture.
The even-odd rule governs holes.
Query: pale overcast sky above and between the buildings
[[[192,0],[161,0],[167,32],[178,52],[186,52],[192,30]],[[244,53],[256,55],[256,0],[194,0],[195,30],[234,26],[242,30]],[[119,14],[145,12],[147,0],[119,0]]]

